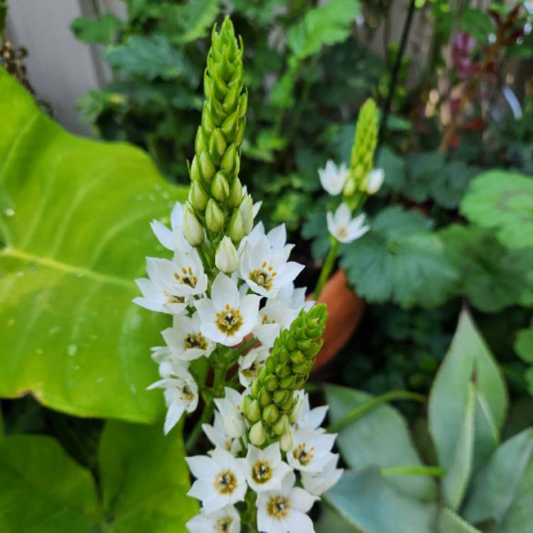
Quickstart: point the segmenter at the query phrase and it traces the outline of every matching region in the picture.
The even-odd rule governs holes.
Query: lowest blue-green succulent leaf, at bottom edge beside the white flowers
[[[345,473],[325,499],[361,533],[433,532],[436,506],[402,495],[377,468]]]

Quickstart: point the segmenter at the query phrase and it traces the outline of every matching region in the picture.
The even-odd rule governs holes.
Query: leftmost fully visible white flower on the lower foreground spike
[[[244,499],[247,488],[242,468],[244,459],[215,448],[210,457],[187,457],[185,461],[196,478],[188,495],[198,498],[206,509],[217,511]]]

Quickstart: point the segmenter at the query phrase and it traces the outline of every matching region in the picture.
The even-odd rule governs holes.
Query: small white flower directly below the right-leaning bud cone
[[[251,444],[244,461],[246,480],[255,492],[264,490],[280,490],[281,481],[284,480],[291,467],[281,461],[279,442],[260,450]]]

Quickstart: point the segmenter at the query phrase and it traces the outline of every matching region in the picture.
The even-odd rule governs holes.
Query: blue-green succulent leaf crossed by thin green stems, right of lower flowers
[[[325,391],[333,422],[373,398],[335,385],[328,385]],[[337,443],[345,462],[356,470],[367,466],[422,465],[403,416],[387,404],[372,409],[340,431]],[[436,496],[436,486],[426,476],[390,475],[386,481],[404,495],[419,500],[434,500]]]

